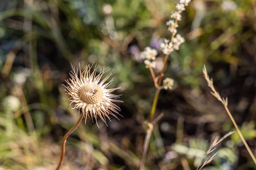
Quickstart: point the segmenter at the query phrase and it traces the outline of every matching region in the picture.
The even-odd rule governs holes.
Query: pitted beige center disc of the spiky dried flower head
[[[83,85],[78,92],[82,102],[92,105],[101,102],[104,96],[102,88],[91,85]]]

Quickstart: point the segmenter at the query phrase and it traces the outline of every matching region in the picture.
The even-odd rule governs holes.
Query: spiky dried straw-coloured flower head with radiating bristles
[[[71,78],[66,80],[67,86],[65,91],[69,94],[70,105],[74,103],[73,109],[81,109],[82,114],[85,116],[85,123],[87,116],[93,121],[93,117],[97,123],[97,117],[99,116],[103,122],[106,123],[106,117],[110,120],[109,115],[116,117],[119,114],[120,108],[113,102],[122,102],[117,100],[120,95],[111,94],[119,88],[107,89],[109,85],[113,82],[111,79],[106,82],[107,79],[113,74],[111,71],[104,79],[100,80],[109,69],[101,69],[99,74],[96,74],[99,65],[95,65],[92,69],[92,65],[86,65],[84,71],[81,71],[81,67],[75,68],[72,66],[73,71],[71,71]],[[120,115],[120,114],[119,114]],[[121,116],[121,115],[120,115]],[[118,119],[116,117],[116,119]]]

